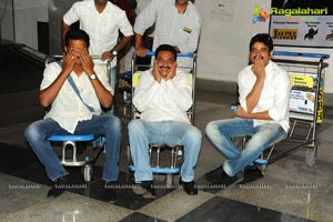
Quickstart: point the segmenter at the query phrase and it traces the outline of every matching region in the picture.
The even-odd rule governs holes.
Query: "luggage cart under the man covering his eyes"
[[[92,59],[100,59],[98,56],[92,56]],[[62,56],[48,56],[46,58],[46,67],[50,62],[60,62],[62,60]],[[105,73],[108,74],[109,81],[110,78],[110,62],[105,64]],[[54,134],[47,138],[51,143],[61,143],[62,144],[62,157],[61,164],[64,167],[82,167],[82,174],[85,182],[89,182],[92,178],[92,167],[97,162],[100,154],[105,150],[105,141],[102,135],[94,134]],[[93,153],[84,153],[82,147],[78,147],[78,144],[87,145],[87,143],[92,143]],[[71,158],[67,158],[67,151],[72,149]],[[82,154],[79,154],[82,153]]]

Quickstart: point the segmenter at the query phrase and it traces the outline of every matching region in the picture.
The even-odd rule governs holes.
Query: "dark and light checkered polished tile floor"
[[[1,94],[0,100],[19,100],[23,94],[33,98],[36,91]],[[195,125],[204,132],[210,120],[230,118],[229,107],[235,101],[235,95],[198,91]],[[123,103],[117,102],[117,111],[122,115]],[[114,189],[114,201],[104,202],[101,196],[103,157],[94,167],[91,182],[83,181],[80,169],[69,169],[71,183],[78,186],[56,199],[47,198],[51,183],[22,134],[29,122],[41,118],[37,105],[33,103],[29,110],[0,111],[2,118],[8,117],[0,128],[0,221],[333,221],[332,108],[325,108],[324,122],[317,129],[315,165],[306,164],[309,151],[301,148],[270,164],[265,176],[254,183],[241,188],[235,184],[212,186],[204,174],[220,167],[223,155],[204,137],[195,168],[195,181],[201,188],[199,194],[189,196],[175,185],[159,189],[157,199],[142,199],[130,189],[133,182],[127,170],[128,120],[122,117],[120,185]],[[16,117],[26,119],[9,121]],[[163,180],[161,175],[155,178],[159,184],[163,184]]]

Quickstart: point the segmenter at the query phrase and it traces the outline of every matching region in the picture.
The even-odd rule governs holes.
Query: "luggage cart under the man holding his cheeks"
[[[148,57],[153,57],[154,52],[149,51],[147,52]],[[183,69],[185,71],[189,71],[189,81],[192,84],[192,98],[193,98],[193,104],[190,110],[188,110],[188,117],[191,124],[194,124],[194,111],[195,111],[195,79],[196,79],[196,54],[195,53],[178,53],[179,57],[189,57],[193,59],[193,65],[192,67],[178,67],[178,69]],[[131,94],[128,95],[131,98],[130,100],[130,117],[131,120],[139,119],[140,112],[135,109],[135,107],[132,103],[132,94],[134,93],[135,87],[138,84],[138,81],[141,75],[141,71],[148,70],[152,68],[149,64],[137,64],[137,54],[133,53],[132,57],[132,78],[131,78]],[[165,174],[167,175],[167,185],[173,184],[173,175],[180,173],[180,167],[183,161],[183,147],[182,145],[175,145],[170,147],[168,144],[150,144],[149,148],[149,155],[150,155],[150,164],[153,173],[158,174]],[[163,159],[162,160],[162,152],[169,151],[170,152],[170,159],[169,163]],[[167,153],[165,153],[167,154]],[[135,168],[131,164],[131,153],[130,153],[130,144],[128,143],[128,162],[129,162],[129,171],[134,172]]]

